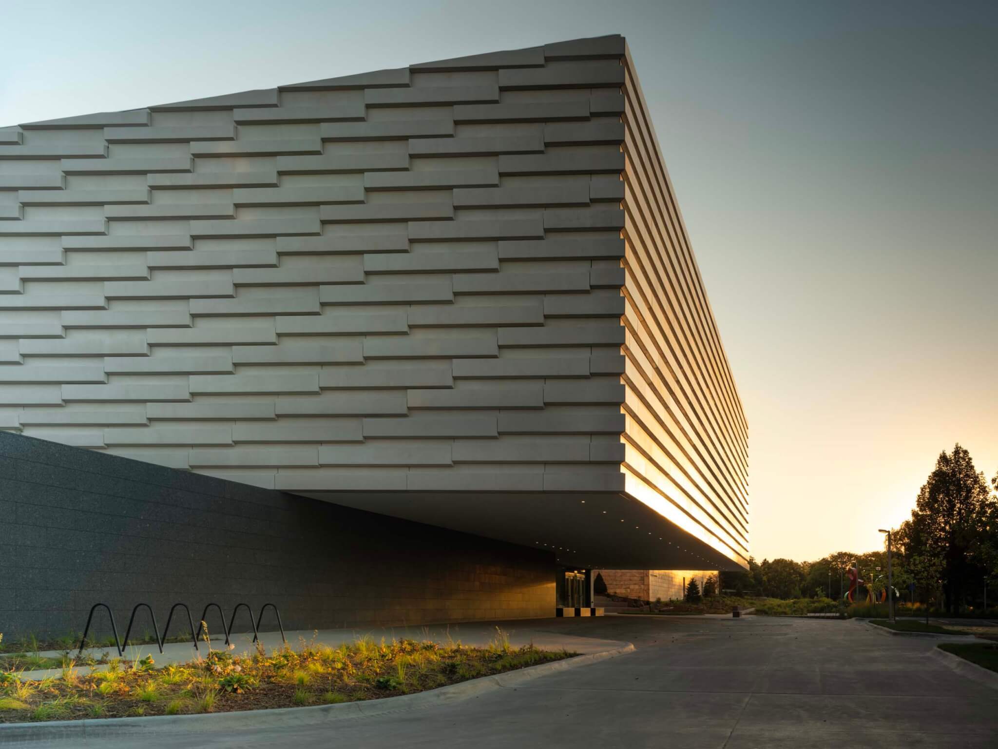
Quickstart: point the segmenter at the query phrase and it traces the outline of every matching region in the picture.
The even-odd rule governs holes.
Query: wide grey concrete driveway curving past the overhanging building
[[[477,697],[376,716],[306,716],[249,730],[172,727],[41,747],[998,746],[998,689],[931,657],[936,640],[859,622],[617,616],[510,628],[638,648]],[[258,714],[257,714],[258,715]],[[193,728],[193,727],[192,727]],[[0,737],[2,741],[2,737]]]

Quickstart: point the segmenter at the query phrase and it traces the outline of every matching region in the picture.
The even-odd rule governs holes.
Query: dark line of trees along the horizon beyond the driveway
[[[985,587],[998,582],[998,473],[988,481],[957,443],[936,459],[918,491],[911,517],[891,532],[891,568],[899,599],[949,613],[983,603]],[[887,584],[884,548],[856,554],[836,551],[814,561],[749,558],[748,571],[722,572],[722,592],[772,598],[839,599],[848,590],[846,569],[856,561],[865,587]],[[998,585],[994,586],[998,588]],[[992,593],[993,594],[993,593]],[[998,603],[994,595],[992,604]]]

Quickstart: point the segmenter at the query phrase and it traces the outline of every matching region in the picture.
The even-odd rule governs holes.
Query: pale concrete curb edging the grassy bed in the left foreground
[[[348,718],[359,718],[408,710],[426,709],[436,705],[479,697],[497,689],[516,688],[526,682],[558,671],[587,666],[618,655],[634,652],[630,642],[623,647],[588,655],[576,655],[553,663],[541,663],[504,674],[481,676],[416,694],[373,700],[343,702],[338,705],[312,707],[281,707],[269,710],[240,710],[198,715],[153,715],[148,718],[88,718],[85,720],[54,720],[46,723],[0,723],[0,744],[15,741],[47,741],[55,739],[119,738],[129,735],[150,735],[178,728],[188,730],[232,731],[253,728],[275,728],[282,725],[301,726]]]

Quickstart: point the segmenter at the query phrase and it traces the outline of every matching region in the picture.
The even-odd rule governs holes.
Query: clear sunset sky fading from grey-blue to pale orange
[[[998,471],[998,4],[4,6],[2,124],[623,34],[749,420],[752,554],[880,547],[957,441]]]

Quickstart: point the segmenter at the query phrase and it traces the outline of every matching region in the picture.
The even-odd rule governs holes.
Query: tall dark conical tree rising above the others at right
[[[968,578],[980,577],[985,522],[994,504],[984,474],[959,442],[936,459],[918,492],[906,543],[911,556],[941,562],[945,608],[956,613]],[[906,549],[907,551],[907,549]]]

